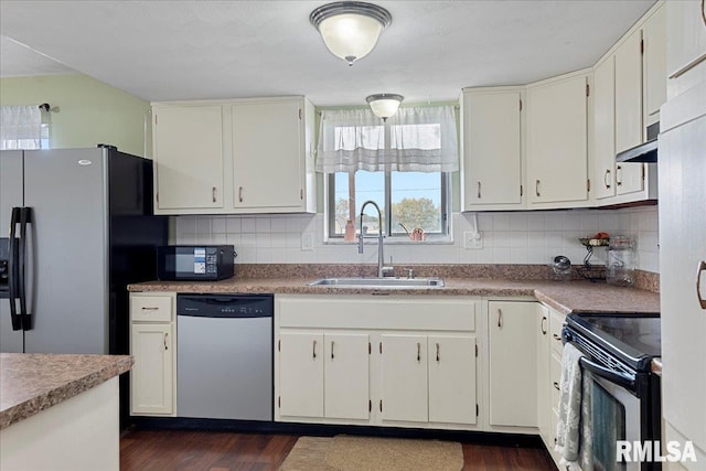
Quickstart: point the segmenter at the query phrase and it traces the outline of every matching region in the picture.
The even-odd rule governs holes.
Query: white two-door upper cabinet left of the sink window
[[[152,104],[157,214],[315,212],[303,97]]]

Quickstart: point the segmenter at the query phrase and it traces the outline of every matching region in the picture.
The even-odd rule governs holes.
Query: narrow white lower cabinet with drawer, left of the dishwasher
[[[175,293],[130,295],[130,415],[176,414]]]

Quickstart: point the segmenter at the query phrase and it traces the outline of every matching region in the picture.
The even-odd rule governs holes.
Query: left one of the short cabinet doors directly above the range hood
[[[642,143],[642,30],[616,51],[616,150]]]

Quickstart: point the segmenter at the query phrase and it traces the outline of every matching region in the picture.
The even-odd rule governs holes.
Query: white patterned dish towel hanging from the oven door
[[[586,468],[591,453],[590,381],[588,373],[581,375],[581,356],[570,343],[564,345],[556,451],[571,471]]]

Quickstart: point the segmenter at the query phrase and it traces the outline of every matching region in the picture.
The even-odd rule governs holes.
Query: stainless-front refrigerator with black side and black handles
[[[0,352],[129,353],[127,285],[157,278],[168,240],[150,160],[113,147],[0,151]]]

